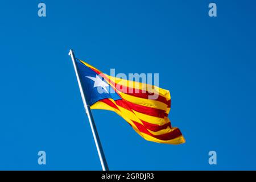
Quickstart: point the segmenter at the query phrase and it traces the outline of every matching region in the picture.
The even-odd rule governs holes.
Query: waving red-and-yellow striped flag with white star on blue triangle
[[[177,127],[168,119],[171,96],[168,90],[117,77],[108,76],[77,59],[81,84],[90,109],[111,110],[125,119],[142,138],[158,143],[185,142]],[[158,97],[149,99],[157,90]]]

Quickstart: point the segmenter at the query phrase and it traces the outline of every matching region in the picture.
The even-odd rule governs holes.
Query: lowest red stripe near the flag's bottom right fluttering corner
[[[143,125],[141,125],[140,123],[138,122],[135,122],[133,121],[135,126],[137,126],[138,130],[141,131],[142,133],[144,134],[147,134],[147,135],[150,135],[151,137],[154,137],[154,138],[157,138],[157,139],[160,139],[160,140],[171,140],[171,139],[175,139],[177,137],[180,137],[182,134],[180,132],[179,129],[175,129],[169,133],[166,133],[166,134],[162,134],[162,135],[153,135],[151,134],[147,129],[146,127],[144,127]]]

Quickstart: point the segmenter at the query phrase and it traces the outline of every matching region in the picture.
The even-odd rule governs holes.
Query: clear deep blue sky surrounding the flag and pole
[[[171,91],[169,117],[187,140],[179,146],[93,111],[110,169],[256,169],[255,2],[214,1],[216,18],[210,2],[1,2],[0,169],[101,170],[70,48],[108,74],[159,73]]]

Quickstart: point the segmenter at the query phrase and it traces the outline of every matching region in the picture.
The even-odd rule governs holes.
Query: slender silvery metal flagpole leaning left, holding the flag
[[[98,156],[99,156],[100,161],[101,161],[102,170],[103,171],[109,171],[108,163],[106,162],[104,151],[103,151],[103,148],[101,146],[100,137],[98,136],[97,128],[96,128],[96,125],[94,123],[92,111],[90,110],[90,106],[86,102],[85,92],[82,88],[79,72],[77,71],[76,57],[75,57],[75,54],[74,54],[72,49],[69,50],[69,56],[71,56],[73,66],[75,68],[76,78],[77,78],[77,82],[79,84],[79,89],[80,89],[80,93],[81,93],[81,97],[82,97],[82,102],[84,103],[84,109],[85,109],[86,115],[88,116],[88,119],[89,119],[90,128],[92,129],[94,142],[96,144],[96,148],[97,148],[97,151],[98,151]]]

